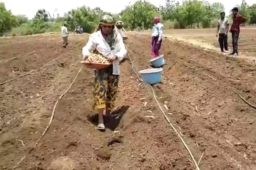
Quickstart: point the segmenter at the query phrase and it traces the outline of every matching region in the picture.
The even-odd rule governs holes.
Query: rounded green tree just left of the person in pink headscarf
[[[149,29],[152,27],[153,18],[159,16],[156,6],[147,1],[137,1],[133,5],[129,5],[121,12],[122,20],[128,23],[133,30],[135,28]]]

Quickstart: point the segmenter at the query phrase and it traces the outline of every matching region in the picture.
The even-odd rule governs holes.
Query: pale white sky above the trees
[[[68,12],[71,9],[80,7],[80,6],[89,6],[90,8],[100,7],[103,11],[111,13],[121,12],[125,6],[129,3],[133,4],[136,0],[0,0],[5,3],[5,7],[8,10],[11,10],[14,15],[23,14],[26,15],[29,19],[32,19],[38,9],[45,9],[46,11],[52,14],[55,9],[58,11],[55,13],[55,16],[59,14],[63,16],[65,12]],[[164,5],[165,0],[148,0],[150,3],[159,6]],[[122,2],[122,3],[121,3]],[[180,2],[182,2],[180,0]],[[208,2],[221,2],[221,0],[208,0]],[[255,3],[255,0],[246,0],[249,5]],[[232,7],[240,5],[242,0],[225,0],[222,3],[225,6],[225,12],[229,13]]]

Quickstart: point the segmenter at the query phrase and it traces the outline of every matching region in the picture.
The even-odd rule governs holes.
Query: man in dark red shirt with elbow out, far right
[[[233,52],[230,55],[238,55],[238,38],[240,34],[240,24],[247,21],[246,18],[238,14],[238,8],[235,7],[232,9],[233,13],[233,24],[231,26],[230,32],[232,33],[232,45]]]

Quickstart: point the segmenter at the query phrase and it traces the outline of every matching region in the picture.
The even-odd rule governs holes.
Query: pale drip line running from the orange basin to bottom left
[[[55,102],[55,105],[54,105],[53,110],[52,110],[51,119],[50,119],[50,121],[49,121],[48,126],[45,128],[45,130],[44,130],[44,132],[42,133],[42,135],[38,138],[38,140],[37,140],[37,142],[35,143],[35,145],[29,150],[28,154],[30,154],[30,153],[35,149],[35,147],[38,145],[38,143],[41,141],[41,139],[44,137],[44,135],[46,134],[46,132],[47,132],[48,129],[50,128],[50,126],[51,126],[51,124],[52,124],[52,120],[53,120],[53,118],[54,118],[55,109],[56,109],[56,107],[57,107],[57,104],[58,104],[59,100],[70,90],[70,88],[72,87],[72,85],[75,83],[75,81],[76,81],[78,75],[79,75],[80,72],[82,71],[83,67],[84,67],[84,66],[82,66],[82,67],[80,68],[80,70],[78,71],[76,77],[74,78],[73,82],[70,84],[70,86],[68,87],[68,89],[67,89],[62,95],[60,95],[60,97],[58,98],[58,100]],[[19,164],[26,158],[26,156],[27,156],[27,155],[25,155],[23,158],[21,158],[21,160],[17,163],[17,165],[16,165],[14,168],[12,168],[12,169],[16,169],[16,168],[19,166]]]

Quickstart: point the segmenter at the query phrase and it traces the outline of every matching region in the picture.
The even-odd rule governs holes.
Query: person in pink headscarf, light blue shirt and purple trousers
[[[163,35],[163,24],[161,24],[159,17],[155,17],[154,26],[152,30],[152,41],[151,41],[151,55],[153,57],[159,56],[159,49],[162,43],[162,35]]]

